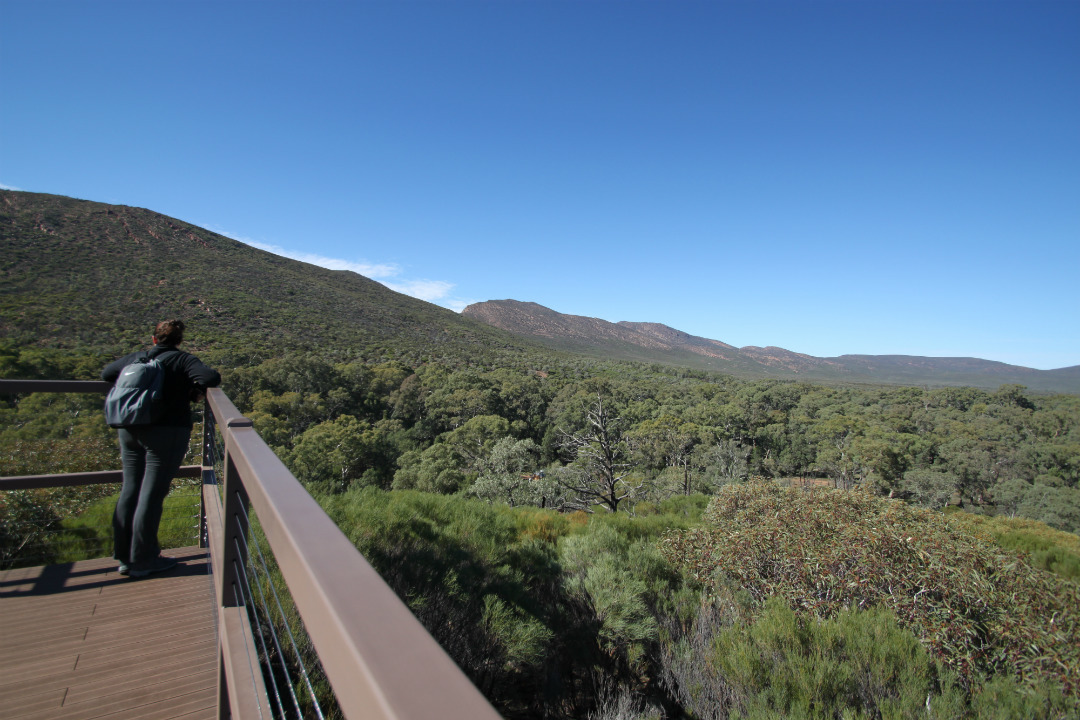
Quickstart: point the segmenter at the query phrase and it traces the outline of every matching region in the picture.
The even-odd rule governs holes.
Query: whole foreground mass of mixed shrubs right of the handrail
[[[673,499],[639,506],[631,517],[375,488],[321,495],[508,718],[1078,711],[1076,585],[954,528],[941,514],[861,493],[752,484],[725,488],[702,515],[706,501]],[[886,506],[876,515],[875,502]],[[733,521],[723,515],[731,505],[761,513],[750,510]],[[806,505],[811,510],[799,511]],[[768,522],[766,508],[781,519]],[[832,532],[814,510],[837,516]],[[864,510],[873,516],[865,526],[855,518]],[[793,544],[777,536],[781,525]],[[863,568],[882,573],[881,582],[837,589],[849,588],[860,571],[842,552],[851,549],[855,526],[878,528],[877,544],[872,539],[865,553],[855,553],[864,565],[890,543],[902,543],[903,552]],[[932,542],[907,541],[928,532],[936,533]],[[740,544],[744,535],[756,540]],[[715,544],[701,540],[714,536]],[[772,545],[756,544],[762,538]],[[732,543],[742,549],[725,549]],[[848,563],[836,569],[839,575],[814,559],[819,544],[835,546]],[[691,552],[706,547],[700,556]],[[725,552],[739,557],[734,570]],[[1003,569],[983,568],[984,576],[972,578],[969,567],[942,567],[964,554]],[[768,593],[760,576],[770,562],[789,578],[778,571]],[[904,601],[917,582],[906,573],[933,583],[915,603]],[[890,581],[895,602],[886,593]],[[1032,642],[1041,643],[1040,653],[1031,652]]]

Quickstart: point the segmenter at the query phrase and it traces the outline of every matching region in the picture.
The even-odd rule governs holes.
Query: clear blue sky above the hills
[[[1080,3],[0,3],[0,186],[445,307],[1080,364]]]

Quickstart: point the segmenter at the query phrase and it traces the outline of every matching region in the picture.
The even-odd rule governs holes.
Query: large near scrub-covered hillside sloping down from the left
[[[528,345],[356,273],[147,209],[0,191],[0,340],[116,354],[177,316],[194,350],[255,359]]]

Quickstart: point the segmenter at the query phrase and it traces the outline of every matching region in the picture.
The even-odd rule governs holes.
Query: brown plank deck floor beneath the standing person
[[[206,551],[164,554],[179,567],[143,580],[111,559],[0,572],[0,717],[214,718]]]

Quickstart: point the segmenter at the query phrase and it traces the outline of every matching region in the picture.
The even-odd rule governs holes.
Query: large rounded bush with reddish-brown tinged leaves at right
[[[819,619],[882,606],[966,688],[1012,674],[1080,688],[1080,586],[1031,568],[944,516],[865,492],[753,483],[720,490],[665,556],[714,588],[778,597]]]

